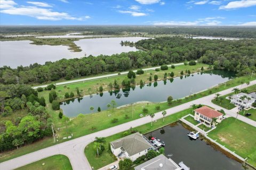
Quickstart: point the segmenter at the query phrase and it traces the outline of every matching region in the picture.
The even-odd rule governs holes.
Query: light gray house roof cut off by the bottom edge
[[[181,170],[172,159],[166,158],[163,154],[148,160],[147,162],[134,167],[135,170]]]

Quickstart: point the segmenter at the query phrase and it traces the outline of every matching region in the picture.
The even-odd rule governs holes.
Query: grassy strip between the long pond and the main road
[[[72,119],[73,123],[71,125],[69,125],[67,128],[65,128],[65,125],[61,122],[61,120],[58,117],[59,111],[53,111],[51,108],[51,104],[49,104],[49,98],[48,98],[49,91],[47,91],[47,93],[45,92],[44,96],[45,96],[46,103],[47,103],[46,109],[47,109],[48,113],[51,115],[51,118],[54,122],[55,129],[60,128],[60,131],[57,131],[57,134],[60,137],[59,142],[63,142],[63,141],[67,141],[67,140],[61,140],[61,139],[63,137],[66,137],[67,135],[70,135],[71,132],[74,134],[74,137],[72,138],[72,139],[74,139],[74,138],[78,138],[78,137],[81,137],[86,134],[90,134],[90,133],[94,133],[94,132],[97,132],[97,131],[100,131],[103,129],[111,128],[115,125],[122,124],[125,122],[135,120],[137,118],[140,118],[139,114],[142,113],[142,106],[148,107],[149,113],[156,113],[158,111],[155,110],[155,106],[158,106],[158,105],[161,106],[160,111],[162,111],[164,109],[178,106],[183,103],[187,103],[188,101],[195,100],[195,99],[210,95],[214,92],[222,91],[227,88],[237,86],[238,84],[240,84],[241,81],[246,82],[246,81],[255,80],[255,79],[256,79],[255,76],[252,79],[250,79],[250,77],[235,78],[233,80],[228,81],[226,83],[226,87],[225,87],[225,83],[219,84],[218,86],[208,89],[206,91],[200,92],[199,94],[184,98],[180,101],[180,103],[173,102],[173,104],[171,106],[168,106],[166,103],[159,103],[159,104],[149,103],[149,105],[136,104],[136,105],[134,105],[135,111],[134,111],[133,118],[131,118],[131,114],[132,114],[132,106],[131,105],[127,106],[127,107],[120,108],[120,109],[114,109],[111,111],[102,111],[100,113],[86,114],[84,120],[79,120],[78,118],[73,118]],[[39,92],[38,94],[39,94],[38,95],[39,97],[41,97],[43,95],[42,92]],[[147,114],[149,114],[149,113],[147,113]],[[108,114],[111,114],[113,116],[111,116],[111,117],[106,116]],[[125,119],[124,118],[125,114],[129,115],[130,118]],[[118,118],[118,122],[113,124],[110,122],[114,116],[116,118]],[[96,129],[91,130],[92,126],[95,126]],[[52,145],[54,145],[53,139],[46,138],[44,140],[33,143],[31,145],[23,146],[17,150],[3,152],[0,155],[0,162],[4,162],[5,160],[9,160],[9,159],[12,159],[15,157],[25,155],[30,152],[37,151],[39,149],[50,147]]]

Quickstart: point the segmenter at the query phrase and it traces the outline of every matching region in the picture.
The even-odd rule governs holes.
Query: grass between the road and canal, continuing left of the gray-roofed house
[[[164,119],[164,122],[161,118],[161,119],[157,120],[157,122],[153,123],[153,126],[151,126],[151,123],[147,123],[147,124],[138,126],[135,129],[137,129],[140,133],[145,134],[150,131],[161,128],[162,126],[176,122],[179,120],[179,118],[191,113],[191,111],[192,111],[192,109],[186,109],[184,111],[175,113],[173,115],[166,116]],[[114,141],[116,139],[122,138],[122,137],[124,137],[123,132],[111,135],[110,137],[107,137],[106,144],[104,145],[105,150],[102,152],[102,155],[99,157],[97,157],[96,150],[93,149],[93,143],[90,143],[89,145],[87,145],[86,148],[84,149],[84,152],[85,152],[85,156],[88,159],[90,165],[93,166],[94,169],[99,169],[103,166],[106,166],[110,163],[115,162],[113,155],[108,152],[108,143],[111,141]]]

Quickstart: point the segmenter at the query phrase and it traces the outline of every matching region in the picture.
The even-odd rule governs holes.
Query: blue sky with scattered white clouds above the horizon
[[[0,24],[256,26],[256,0],[0,0]]]

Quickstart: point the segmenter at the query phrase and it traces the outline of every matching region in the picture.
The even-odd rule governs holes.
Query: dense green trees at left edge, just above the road
[[[0,121],[0,152],[18,148],[52,134],[50,115],[45,109],[45,99],[25,84],[0,84],[0,116],[26,113],[13,121]],[[13,113],[14,112],[14,113]],[[28,113],[28,114],[27,114]]]

